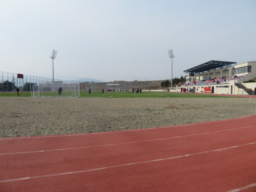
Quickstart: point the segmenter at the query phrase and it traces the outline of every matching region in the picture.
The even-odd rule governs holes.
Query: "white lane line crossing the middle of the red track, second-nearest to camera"
[[[212,151],[203,151],[203,152],[198,152],[198,153],[193,153],[193,154],[186,154],[186,155],[180,155],[176,157],[169,157],[169,158],[164,158],[164,159],[155,159],[155,160],[148,160],[148,161],[141,161],[141,162],[135,162],[135,163],[126,163],[122,165],[115,165],[115,166],[108,166],[108,167],[100,167],[96,169],[88,169],[88,170],[82,170],[82,171],[76,171],[76,172],[64,172],[64,173],[56,173],[56,174],[50,174],[50,175],[39,175],[39,176],[32,176],[32,177],[23,177],[23,178],[17,178],[17,179],[8,179],[8,180],[0,180],[0,183],[4,182],[11,182],[11,181],[19,181],[19,180],[27,180],[27,179],[36,179],[36,178],[42,178],[42,177],[52,177],[52,176],[61,176],[61,175],[70,175],[70,174],[76,174],[76,173],[84,173],[84,172],[93,172],[93,171],[98,171],[98,170],[103,170],[103,169],[111,169],[111,168],[116,168],[116,167],[122,167],[122,166],[131,166],[131,165],[137,165],[137,164],[142,164],[142,163],[152,163],[152,162],[157,162],[157,161],[163,161],[163,160],[172,160],[172,159],[177,159],[181,157],[189,157],[192,155],[198,155],[198,154],[206,154],[210,152],[216,152],[216,151],[223,151],[231,148],[238,148],[238,147],[243,147],[246,145],[254,145],[255,143],[247,143],[243,145],[236,145],[232,147],[227,147],[227,148],[219,148],[215,149]]]

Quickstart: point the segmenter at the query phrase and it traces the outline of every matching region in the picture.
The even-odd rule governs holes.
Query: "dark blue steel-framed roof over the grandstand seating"
[[[192,68],[190,68],[188,70],[185,70],[183,72],[184,73],[194,73],[194,74],[204,73],[204,72],[211,71],[211,70],[221,69],[223,67],[230,67],[230,66],[232,66],[236,63],[237,62],[211,60],[211,61],[208,61],[208,62],[203,63],[201,65],[198,65],[196,67],[192,67]]]

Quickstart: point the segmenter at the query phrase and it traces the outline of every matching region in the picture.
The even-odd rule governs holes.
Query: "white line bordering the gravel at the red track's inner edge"
[[[244,119],[248,117],[253,117],[256,115],[251,116],[244,116],[234,119]],[[150,129],[162,129],[162,128],[176,128],[176,127],[185,127],[189,125],[201,125],[206,123],[215,123],[215,122],[222,122],[222,121],[230,121],[232,119],[223,119],[218,121],[209,121],[209,122],[198,122],[198,123],[189,123],[189,124],[183,124],[183,125],[172,125],[172,126],[166,126],[166,127],[153,127],[153,128],[140,128],[140,129],[130,129],[130,130],[120,130],[120,131],[106,131],[106,132],[96,132],[96,133],[84,133],[84,134],[71,134],[71,135],[48,135],[48,136],[32,136],[32,137],[8,137],[8,138],[0,138],[0,140],[13,140],[13,139],[36,139],[36,138],[42,138],[42,137],[70,137],[70,136],[82,136],[82,135],[93,135],[93,134],[113,134],[113,133],[119,133],[119,132],[127,132],[127,131],[147,131]]]

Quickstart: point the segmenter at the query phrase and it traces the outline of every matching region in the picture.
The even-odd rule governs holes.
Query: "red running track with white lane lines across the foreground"
[[[256,116],[0,139],[1,192],[255,192]]]

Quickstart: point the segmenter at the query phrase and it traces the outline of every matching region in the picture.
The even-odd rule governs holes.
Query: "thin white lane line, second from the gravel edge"
[[[226,129],[226,130],[221,130],[221,131],[207,132],[207,133],[202,133],[202,134],[183,135],[183,136],[167,137],[167,138],[160,138],[160,139],[154,139],[154,140],[131,141],[131,142],[125,142],[125,143],[112,143],[112,144],[107,144],[107,145],[95,145],[95,146],[76,147],[76,148],[59,148],[59,149],[41,150],[41,151],[23,151],[23,152],[13,152],[13,153],[0,153],[0,155],[40,153],[40,152],[49,152],[49,151],[63,151],[63,150],[72,150],[72,149],[79,149],[79,148],[93,148],[93,147],[104,147],[104,146],[111,146],[111,145],[123,145],[123,144],[129,144],[129,143],[140,143],[140,142],[149,142],[149,141],[158,141],[158,140],[169,140],[169,139],[175,139],[175,138],[180,138],[180,137],[192,137],[192,136],[198,136],[198,135],[204,135],[204,134],[212,134],[212,133],[218,133],[218,132],[224,132],[224,131],[232,131],[232,130],[248,128],[248,127],[252,127],[252,125],[246,126],[246,127],[240,127],[240,128]]]

